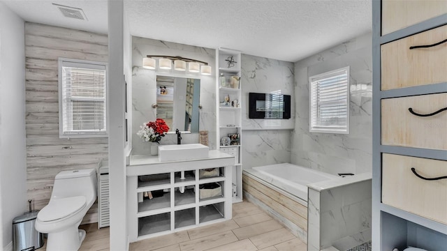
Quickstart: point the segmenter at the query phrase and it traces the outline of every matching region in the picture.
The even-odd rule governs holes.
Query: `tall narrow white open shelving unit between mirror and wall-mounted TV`
[[[233,166],[233,185],[236,195],[233,202],[242,201],[242,94],[241,53],[236,50],[219,48],[216,50],[216,116],[217,149],[235,156]],[[230,144],[222,142],[223,137],[230,137]]]

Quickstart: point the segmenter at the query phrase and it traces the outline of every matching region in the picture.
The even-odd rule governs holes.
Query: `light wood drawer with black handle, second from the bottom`
[[[381,100],[383,145],[447,150],[447,111],[432,114],[447,107],[447,93],[437,93]]]

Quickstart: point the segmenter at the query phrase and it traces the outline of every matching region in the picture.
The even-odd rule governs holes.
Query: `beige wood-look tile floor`
[[[80,250],[110,250],[109,228],[82,225]],[[45,245],[39,250],[45,250]],[[112,248],[112,250],[114,250]],[[306,243],[248,201],[233,204],[233,219],[130,244],[129,250],[155,251],[305,251]]]

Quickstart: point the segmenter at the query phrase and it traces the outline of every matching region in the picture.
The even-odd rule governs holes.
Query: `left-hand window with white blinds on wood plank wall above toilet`
[[[106,63],[59,59],[59,137],[106,137]]]

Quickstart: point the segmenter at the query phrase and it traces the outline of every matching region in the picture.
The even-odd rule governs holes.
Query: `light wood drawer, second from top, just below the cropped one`
[[[398,89],[447,82],[447,25],[395,40],[381,46],[381,89]]]

